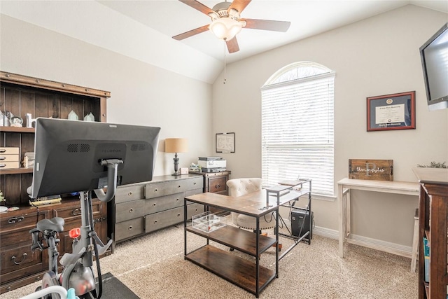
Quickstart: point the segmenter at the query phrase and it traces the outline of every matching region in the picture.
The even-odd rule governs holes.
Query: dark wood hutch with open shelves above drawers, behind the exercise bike
[[[59,234],[59,258],[71,251],[69,230],[80,225],[80,202],[77,196],[62,195],[59,204],[31,207],[27,188],[31,186],[33,169],[22,165],[25,153],[34,152],[34,128],[25,127],[26,114],[32,118],[64,118],[74,111],[80,120],[92,113],[95,121],[106,122],[108,91],[43,80],[0,71],[0,111],[10,111],[24,120],[23,127],[0,126],[0,147],[19,148],[20,168],[0,168],[0,190],[7,207],[15,211],[0,213],[0,293],[39,281],[48,270],[48,253],[31,252],[29,230],[43,218],[65,219],[64,232]],[[69,171],[69,169],[67,169]],[[107,204],[93,201],[95,230],[107,241]],[[108,251],[106,254],[110,254]]]

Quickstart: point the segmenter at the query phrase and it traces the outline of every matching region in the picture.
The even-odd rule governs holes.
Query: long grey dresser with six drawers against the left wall
[[[203,192],[203,177],[195,174],[154,176],[153,181],[119,186],[109,207],[113,248],[118,242],[183,222],[183,198]],[[188,204],[187,216],[204,211]]]

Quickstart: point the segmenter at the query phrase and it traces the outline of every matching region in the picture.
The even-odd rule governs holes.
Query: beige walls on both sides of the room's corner
[[[335,181],[347,175],[349,158],[393,159],[395,180],[415,181],[416,164],[448,161],[448,111],[428,112],[418,51],[447,19],[405,6],[230,64],[227,83],[221,76],[211,86],[1,15],[0,69],[111,91],[110,123],[189,139],[182,167],[218,155],[216,133],[236,132],[237,152],[222,156],[237,178],[261,174],[260,87],[286,64],[318,62],[336,72]],[[365,132],[366,97],[411,90],[416,130]],[[159,152],[155,175],[171,172],[172,154]],[[410,246],[416,198],[358,192],[353,199],[354,233]],[[314,200],[313,209],[318,227],[337,230],[337,202]]]

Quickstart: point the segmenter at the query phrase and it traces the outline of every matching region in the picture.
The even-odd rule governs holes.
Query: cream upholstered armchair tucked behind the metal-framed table
[[[229,195],[232,197],[239,197],[247,193],[261,190],[262,179],[248,178],[248,179],[230,179],[227,181],[229,188]],[[232,212],[232,222],[239,228],[246,228],[248,230],[256,230],[255,218],[247,215]],[[275,228],[276,221],[272,214],[267,214],[260,218],[260,230],[267,230]]]

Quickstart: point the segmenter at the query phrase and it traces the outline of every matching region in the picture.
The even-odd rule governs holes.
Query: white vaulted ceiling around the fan
[[[200,1],[212,8],[222,1]],[[211,32],[183,41],[172,36],[207,25],[210,18],[176,0],[0,1],[0,13],[143,62],[213,83],[227,63],[414,4],[448,13],[448,1],[253,0],[241,18],[290,21],[288,32],[242,29],[239,52],[229,54]]]

